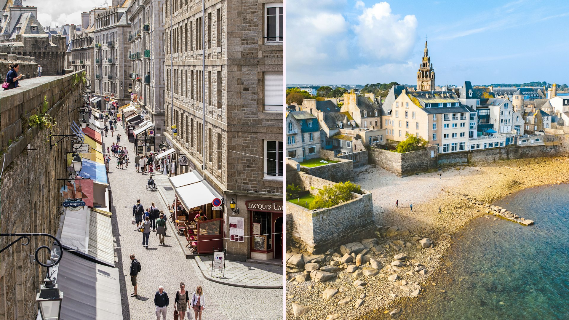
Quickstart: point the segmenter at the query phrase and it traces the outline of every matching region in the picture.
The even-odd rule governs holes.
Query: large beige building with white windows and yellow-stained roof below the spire
[[[475,110],[460,103],[453,91],[402,91],[383,116],[388,140],[403,141],[405,134],[423,137],[439,146],[439,153],[465,151]]]

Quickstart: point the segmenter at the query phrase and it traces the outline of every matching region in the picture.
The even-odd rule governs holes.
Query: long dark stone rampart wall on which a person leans
[[[69,123],[79,120],[79,112],[69,106],[81,103],[82,81],[75,74],[57,79],[35,82],[22,88],[2,93],[2,124],[0,146],[4,150],[2,179],[0,180],[0,214],[2,233],[50,233],[56,235],[60,225],[63,200],[60,188],[68,177],[66,151],[69,142],[60,141],[50,147],[48,129],[27,125],[32,113],[39,113],[47,97],[48,111],[57,122],[52,134],[71,134]],[[44,79],[44,78],[40,78]],[[55,142],[55,141],[54,141]],[[18,221],[14,223],[14,221]],[[3,248],[15,237],[1,237]],[[46,269],[30,263],[30,255],[41,245],[51,245],[47,237],[32,237],[30,244],[21,242],[2,252],[0,264],[0,319],[35,319],[38,306],[35,293],[39,281],[46,277]],[[47,260],[47,251],[40,251],[40,259]],[[64,259],[65,256],[63,256]]]

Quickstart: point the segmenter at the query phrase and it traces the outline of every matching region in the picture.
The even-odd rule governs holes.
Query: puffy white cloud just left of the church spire
[[[387,2],[380,2],[365,8],[358,17],[360,24],[354,26],[361,47],[361,54],[376,59],[405,61],[417,40],[417,18],[391,14]]]

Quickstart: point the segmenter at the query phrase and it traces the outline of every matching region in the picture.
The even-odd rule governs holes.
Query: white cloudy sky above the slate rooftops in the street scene
[[[99,7],[105,0],[27,0],[24,5],[38,7],[38,20],[42,26],[81,24],[81,13]],[[109,0],[110,4],[112,1]]]

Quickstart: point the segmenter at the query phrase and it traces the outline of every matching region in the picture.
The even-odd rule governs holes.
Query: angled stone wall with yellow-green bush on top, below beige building
[[[397,153],[369,147],[369,163],[380,166],[398,177],[406,177],[436,169],[436,149],[436,146],[429,146],[424,150]],[[431,151],[434,157],[431,157]]]

